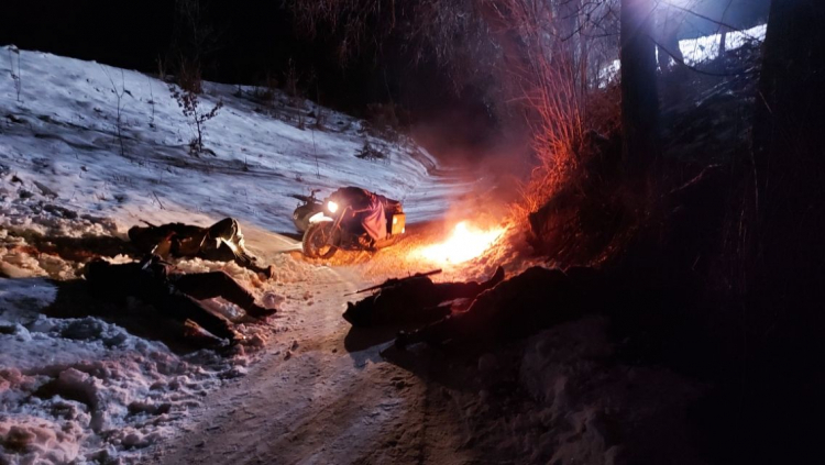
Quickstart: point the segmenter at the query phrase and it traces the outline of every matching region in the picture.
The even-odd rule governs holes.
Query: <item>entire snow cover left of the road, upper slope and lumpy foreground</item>
[[[288,193],[344,185],[404,200],[415,222],[469,188],[437,182],[429,175],[437,162],[409,141],[369,135],[362,121],[308,101],[276,93],[265,103],[254,89],[228,85],[205,85],[204,108],[223,108],[205,125],[207,153],[193,156],[195,134],[166,82],[13,46],[2,56],[0,273],[10,278],[0,278],[0,463],[139,461],[206,392],[243,376],[255,359],[250,352],[288,356],[294,341],[278,334],[304,322],[290,310],[311,306],[314,284],[332,276],[288,254],[266,256],[277,267],[271,281],[234,264],[182,263],[185,270],[224,269],[264,300],[286,298],[285,318],[254,326],[233,306],[216,303],[250,343],[230,356],[182,355],[121,325],[140,319],[146,309],[139,302],[120,309],[117,321],[84,315],[69,285],[82,257],[40,245],[123,237],[141,220],[209,225],[223,217],[268,237],[293,230]],[[389,160],[356,158],[366,141]],[[268,248],[285,247],[271,240],[283,243]],[[62,314],[73,306],[80,308]]]

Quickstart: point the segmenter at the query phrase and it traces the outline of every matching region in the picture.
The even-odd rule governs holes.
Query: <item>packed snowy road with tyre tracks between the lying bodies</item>
[[[264,255],[293,248],[283,236],[250,231]],[[268,237],[267,237],[268,239]],[[267,257],[268,258],[268,257]],[[465,463],[448,399],[385,362],[392,333],[359,335],[341,318],[358,269],[321,266],[312,306],[289,317],[287,353],[267,352],[246,377],[205,399],[180,436],[158,444],[150,463]],[[381,342],[384,340],[385,342]]]

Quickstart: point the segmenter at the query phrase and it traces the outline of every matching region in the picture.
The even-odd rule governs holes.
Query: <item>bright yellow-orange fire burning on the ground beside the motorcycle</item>
[[[462,221],[455,225],[450,239],[441,244],[422,247],[417,254],[425,259],[437,263],[463,263],[483,254],[504,232],[504,228],[482,231]]]

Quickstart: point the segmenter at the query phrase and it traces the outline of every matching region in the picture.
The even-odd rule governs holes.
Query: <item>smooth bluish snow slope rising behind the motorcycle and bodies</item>
[[[443,198],[444,189],[428,181],[436,162],[426,151],[367,135],[362,121],[302,99],[276,93],[265,103],[252,88],[205,84],[201,111],[219,101],[223,108],[205,124],[209,152],[194,157],[188,144],[196,133],[166,82],[38,52],[3,52],[3,170],[81,212],[105,211],[127,224],[200,212],[290,231],[296,203],[286,196],[310,188],[329,193],[359,185],[400,200]],[[355,158],[367,141],[389,162]],[[407,203],[411,221],[438,210]]]

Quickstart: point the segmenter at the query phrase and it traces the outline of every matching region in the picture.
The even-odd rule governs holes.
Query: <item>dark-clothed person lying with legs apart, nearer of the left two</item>
[[[110,300],[136,297],[176,320],[191,320],[231,343],[242,339],[232,330],[232,322],[212,313],[199,300],[220,297],[256,319],[277,311],[256,305],[255,297],[224,272],[184,274],[157,255],[125,264],[97,258],[86,265],[84,276],[94,295]]]

